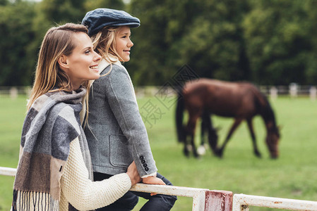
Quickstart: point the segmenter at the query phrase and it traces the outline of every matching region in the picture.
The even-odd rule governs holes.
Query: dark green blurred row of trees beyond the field
[[[199,77],[316,84],[314,0],[0,0],[0,86],[31,85],[49,27],[99,7],[140,18],[124,64],[136,85],[165,84],[184,65]]]

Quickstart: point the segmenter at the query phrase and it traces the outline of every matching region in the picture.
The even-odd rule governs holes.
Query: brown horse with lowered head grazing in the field
[[[215,146],[217,144],[215,141],[217,140],[209,139],[211,148],[219,157],[222,157],[225,146],[235,129],[237,129],[243,120],[246,120],[253,141],[253,151],[257,157],[261,158],[261,153],[258,151],[258,146],[256,145],[256,136],[252,124],[252,119],[256,115],[260,115],[265,123],[267,132],[266,143],[270,151],[270,157],[278,157],[280,134],[275,122],[275,115],[268,99],[253,84],[248,82],[234,83],[214,79],[198,79],[187,82],[179,92],[179,96],[176,111],[177,135],[179,141],[185,144],[185,155],[189,155],[189,150],[186,146],[189,141],[188,136],[190,136],[193,154],[198,157],[193,137],[198,118],[204,117],[204,113],[207,112],[208,115],[234,118],[234,123],[220,148]],[[189,121],[186,126],[183,126],[184,110],[187,110],[189,113]],[[205,117],[205,120],[208,120],[208,118]],[[210,123],[208,125],[210,127]],[[215,130],[209,129],[209,131],[209,137],[212,137]]]

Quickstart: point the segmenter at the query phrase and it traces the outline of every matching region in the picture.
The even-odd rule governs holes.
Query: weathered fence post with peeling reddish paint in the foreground
[[[206,191],[205,211],[231,211],[232,197],[232,191]]]

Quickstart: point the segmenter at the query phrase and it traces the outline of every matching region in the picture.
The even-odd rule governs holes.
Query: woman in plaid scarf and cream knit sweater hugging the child
[[[12,210],[94,210],[113,203],[140,181],[128,172],[93,182],[79,113],[88,79],[100,77],[100,56],[87,28],[52,27],[42,41],[23,124]]]

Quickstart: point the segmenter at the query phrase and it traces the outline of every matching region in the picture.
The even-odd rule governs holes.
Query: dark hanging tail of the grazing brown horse
[[[185,137],[185,130],[183,126],[183,120],[184,120],[184,98],[181,96],[181,90],[178,92],[178,101],[177,101],[177,107],[176,107],[176,128],[177,128],[177,139],[179,142],[184,142]]]

